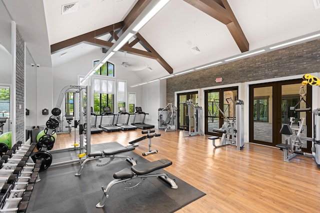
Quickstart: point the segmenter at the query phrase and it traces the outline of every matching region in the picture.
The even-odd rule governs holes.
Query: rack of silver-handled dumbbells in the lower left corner
[[[18,141],[0,158],[0,212],[26,212],[42,160],[30,155],[35,148]]]

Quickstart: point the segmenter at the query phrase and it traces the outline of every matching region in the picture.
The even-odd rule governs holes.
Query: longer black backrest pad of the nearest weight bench
[[[168,159],[160,159],[152,162],[139,163],[139,164],[133,165],[131,167],[131,170],[138,175],[142,175],[142,174],[150,173],[160,168],[164,168],[171,164],[172,164],[172,161]]]

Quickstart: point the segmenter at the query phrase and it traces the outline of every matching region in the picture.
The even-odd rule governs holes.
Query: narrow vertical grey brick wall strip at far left
[[[24,41],[16,29],[16,70],[15,70],[15,132],[16,141],[24,141]]]

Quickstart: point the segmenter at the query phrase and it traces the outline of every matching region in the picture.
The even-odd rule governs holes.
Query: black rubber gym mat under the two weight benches
[[[122,145],[117,142],[96,144],[91,146],[91,151],[119,146]],[[61,156],[61,152],[58,155],[67,158]],[[72,151],[66,153],[66,156],[70,155]],[[148,161],[132,151],[121,155],[131,156],[137,163]],[[52,153],[53,159],[56,156]],[[100,163],[107,160],[104,158]],[[106,166],[96,166],[95,160],[88,161],[80,176],[74,176],[79,168],[77,163],[49,167],[40,172],[41,180],[34,186],[26,212],[173,212],[205,195],[178,177],[159,169],[157,172],[164,172],[175,180],[177,189],[172,189],[156,177],[145,178],[139,187],[128,191],[124,191],[128,185],[118,183],[112,186],[104,207],[95,207],[102,196],[101,186],[106,186],[113,179],[113,173],[125,167],[130,168],[130,164],[119,158]],[[133,179],[131,186],[139,180]]]

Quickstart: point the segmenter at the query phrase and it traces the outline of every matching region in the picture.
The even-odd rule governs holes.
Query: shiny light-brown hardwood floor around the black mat
[[[170,159],[165,170],[206,193],[177,212],[315,212],[320,209],[320,168],[304,156],[284,162],[278,148],[245,143],[212,146],[208,136],[182,137],[182,131],[164,132],[152,138],[148,160]],[[91,135],[91,144],[128,141],[142,136],[141,129]],[[59,134],[54,148],[70,147],[74,134]],[[148,150],[148,140],[134,152]]]

